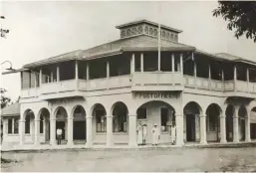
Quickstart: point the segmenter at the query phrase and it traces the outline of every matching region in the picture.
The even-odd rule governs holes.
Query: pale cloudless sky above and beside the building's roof
[[[120,37],[115,27],[139,19],[182,30],[179,42],[208,53],[229,53],[256,61],[256,44],[237,40],[227,22],[212,16],[216,1],[10,1],[0,0],[0,63],[14,69],[60,54],[104,44]],[[9,68],[1,66],[1,71]],[[1,76],[1,87],[15,101],[20,74]]]

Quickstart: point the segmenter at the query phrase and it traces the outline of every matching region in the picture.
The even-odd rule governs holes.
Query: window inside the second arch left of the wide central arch
[[[105,110],[96,110],[96,130],[97,132],[107,131],[107,119]]]

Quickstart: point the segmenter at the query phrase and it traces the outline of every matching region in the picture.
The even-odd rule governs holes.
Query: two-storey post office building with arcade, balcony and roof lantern
[[[117,26],[120,39],[25,65],[20,144],[85,141],[136,145],[136,126],[154,123],[160,143],[256,138],[256,62],[179,43],[182,32],[140,20]],[[160,39],[159,39],[159,37]],[[210,41],[209,41],[210,42]]]

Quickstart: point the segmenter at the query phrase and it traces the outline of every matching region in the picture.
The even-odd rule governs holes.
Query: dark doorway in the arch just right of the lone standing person
[[[74,121],[73,138],[76,140],[85,140],[87,137],[86,121]]]

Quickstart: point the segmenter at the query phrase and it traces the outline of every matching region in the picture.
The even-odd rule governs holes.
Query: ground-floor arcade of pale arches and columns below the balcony
[[[75,106],[59,105],[55,109],[44,107],[38,111],[26,109],[19,123],[21,144],[50,143],[56,145],[56,129],[63,129],[64,144],[74,145],[76,141],[87,146],[94,144],[136,145],[136,126],[146,126],[146,143],[152,141],[151,128],[157,124],[160,131],[159,143],[170,143],[171,125],[176,125],[176,145],[186,142],[239,142],[256,138],[251,112],[245,105],[225,106],[210,103],[202,107],[196,101],[185,103],[182,112],[176,105],[164,100],[145,101],[135,109],[126,102],[115,102],[111,108],[102,103],[91,107],[80,103]],[[30,135],[30,137],[28,137]],[[74,142],[75,141],[75,142]]]

